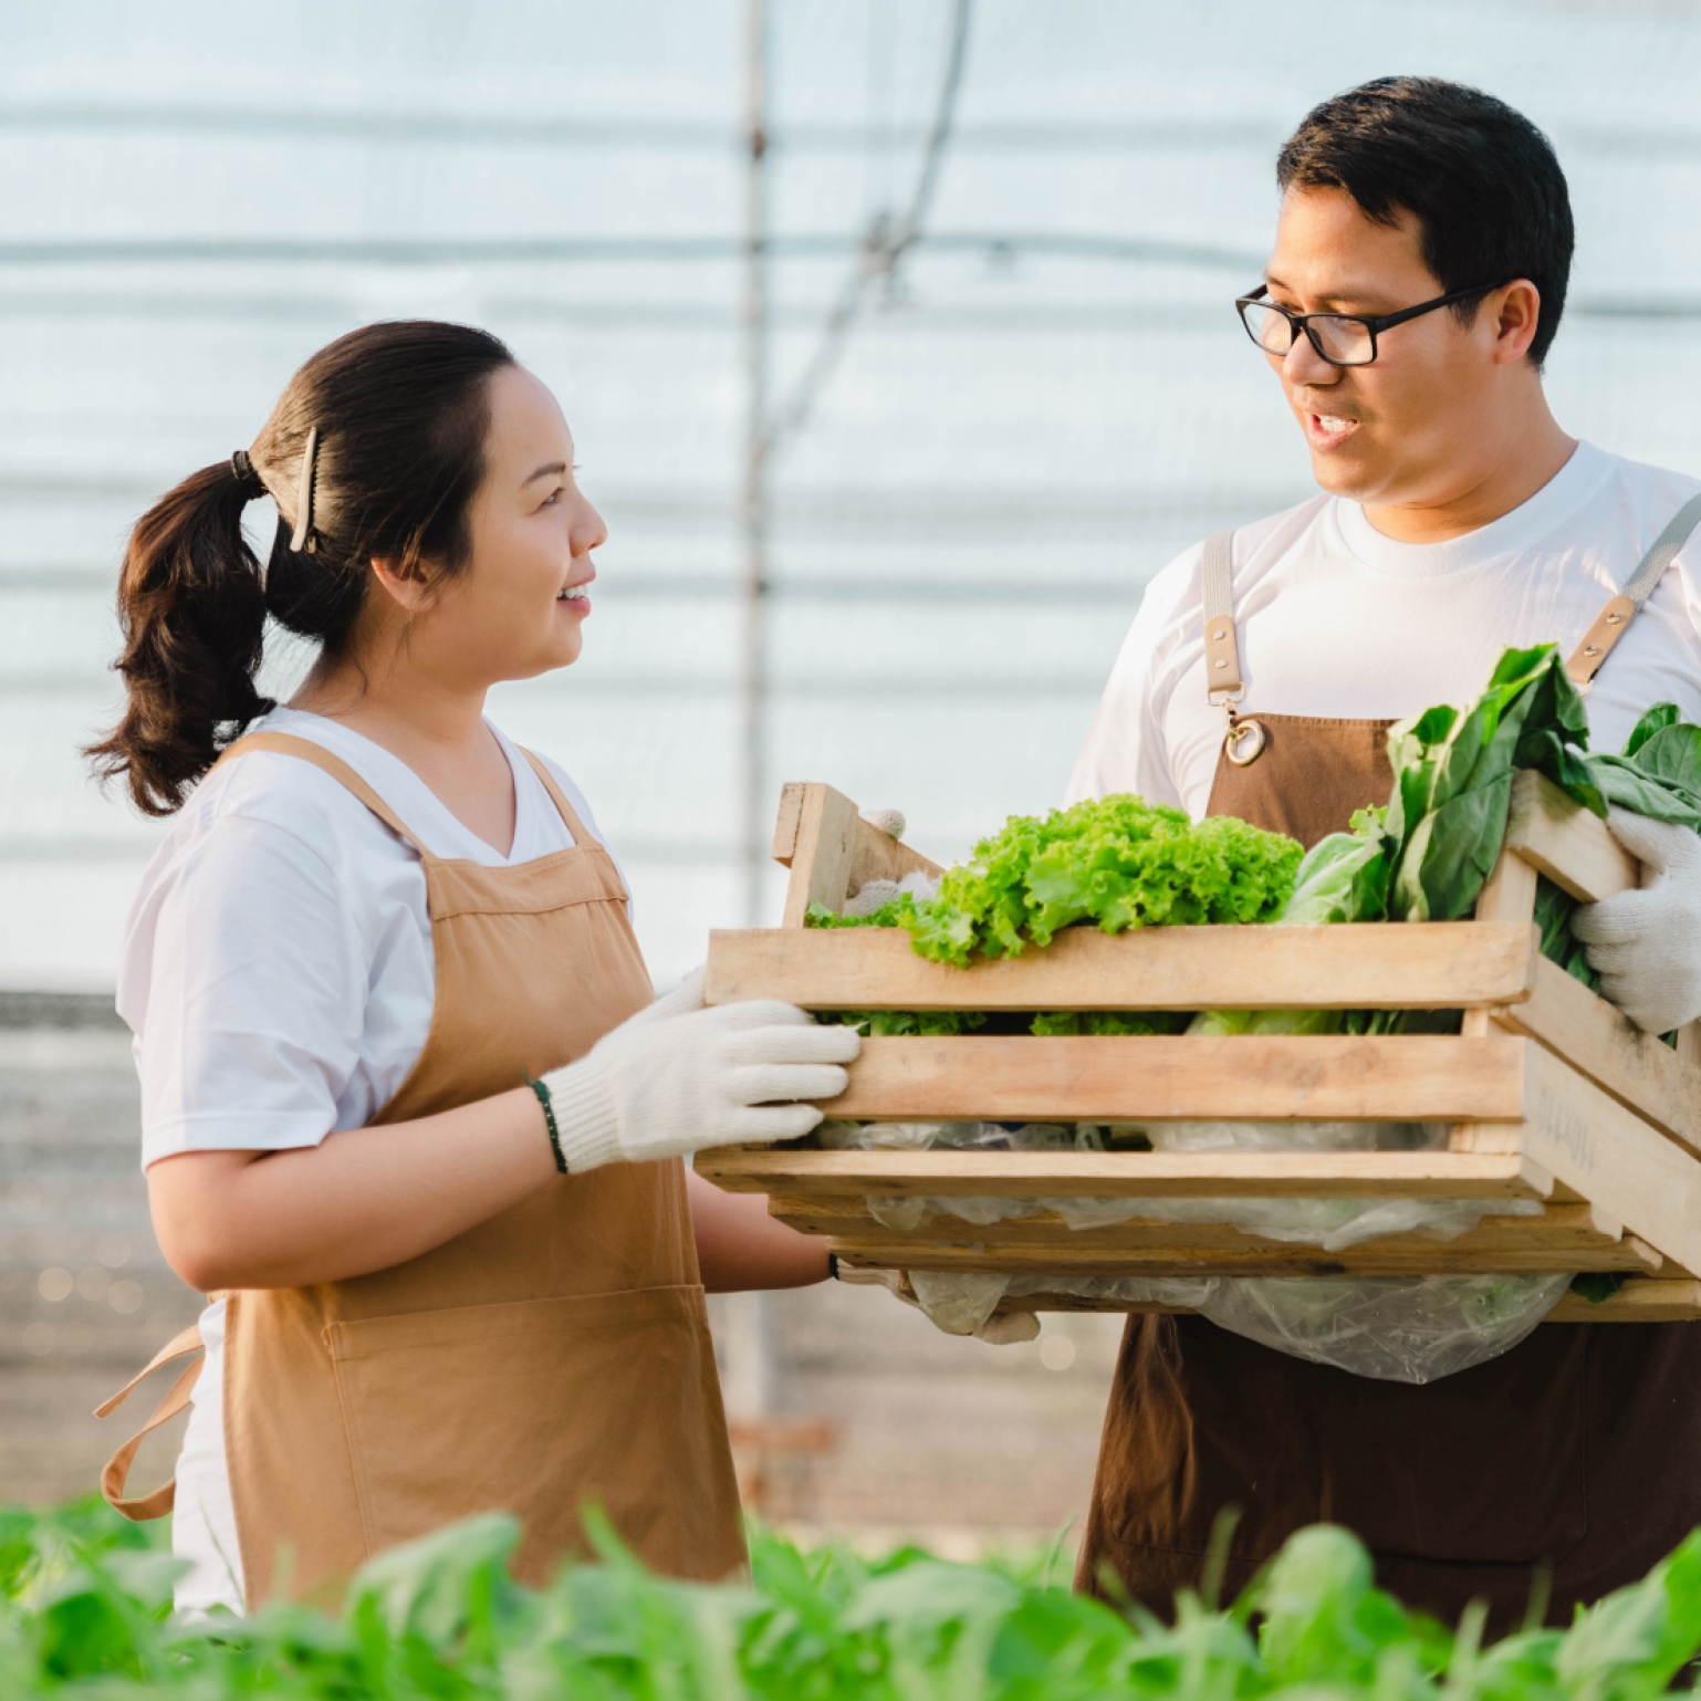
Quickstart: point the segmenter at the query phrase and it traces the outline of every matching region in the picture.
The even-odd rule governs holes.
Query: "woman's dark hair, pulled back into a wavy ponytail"
[[[114,665],[128,703],[85,752],[97,772],[122,774],[139,810],[170,815],[274,706],[253,682],[267,616],[335,655],[374,556],[403,573],[461,572],[468,503],[485,476],[490,378],[512,364],[502,342],[466,325],[366,325],[296,373],[247,459],[204,466],[167,492],[124,553]],[[264,573],[242,534],[242,510],[262,493],[279,512]]]

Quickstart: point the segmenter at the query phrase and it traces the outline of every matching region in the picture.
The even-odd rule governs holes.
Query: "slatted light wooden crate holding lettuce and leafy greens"
[[[1446,1121],[1444,1152],[822,1152],[735,1146],[697,1172],[765,1192],[781,1221],[850,1266],[1072,1276],[1556,1274],[1630,1279],[1556,1322],[1701,1317],[1701,1039],[1640,1033],[1539,951],[1536,876],[1594,902],[1635,861],[1587,810],[1516,776],[1505,849],[1476,920],[1422,925],[1073,929],[1044,951],[954,970],[888,929],[806,929],[871,878],[934,864],[827,786],[788,786],[774,856],[784,925],[716,932],[708,998],[813,1010],[1458,1009],[1448,1036],[866,1039],[835,1118],[878,1121]],[[1053,1213],[993,1225],[878,1223],[868,1196],[1536,1199],[1453,1242],[1388,1235],[1344,1252],[1228,1225],[1133,1220],[1072,1230]],[[1065,1294],[1027,1310],[1143,1310]]]

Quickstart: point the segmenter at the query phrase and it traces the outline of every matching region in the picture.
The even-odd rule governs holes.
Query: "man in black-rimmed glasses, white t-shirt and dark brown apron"
[[[1380,80],[1311,112],[1276,175],[1276,247],[1238,308],[1323,493],[1233,536],[1232,619],[1209,640],[1203,546],[1152,582],[1070,799],[1138,791],[1311,844],[1386,801],[1391,720],[1473,697],[1509,645],[1580,657],[1701,483],[1577,442],[1548,408],[1572,216],[1553,150],[1517,112]],[[1621,640],[1587,696],[1594,747],[1621,748],[1658,701],[1701,721],[1701,531]],[[1237,665],[1243,689],[1213,691]],[[1613,825],[1665,874],[1579,912],[1577,930],[1609,995],[1670,1029],[1701,1014],[1701,842]],[[1563,1619],[1701,1524],[1701,1330],[1551,1325],[1408,1386],[1198,1317],[1133,1318],[1082,1584],[1109,1568],[1167,1604],[1230,1505],[1230,1587],[1330,1519],[1414,1606],[1456,1618],[1482,1596],[1505,1628],[1548,1568]]]

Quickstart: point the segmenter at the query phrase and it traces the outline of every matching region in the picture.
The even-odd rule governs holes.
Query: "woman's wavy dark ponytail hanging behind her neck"
[[[242,534],[255,485],[231,461],[204,466],[129,536],[117,592],[124,718],[83,754],[104,779],[122,776],[145,815],[182,808],[219,750],[272,708],[253,684],[265,594]]]

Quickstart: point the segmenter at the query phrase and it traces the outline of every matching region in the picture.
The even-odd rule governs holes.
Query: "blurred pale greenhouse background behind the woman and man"
[[[1060,798],[1150,575],[1310,490],[1230,301],[1259,277],[1274,151],[1323,95],[1434,73],[1548,129],[1580,233],[1550,361],[1560,420],[1701,473],[1698,63],[1701,10],[1655,0],[1356,0],[1300,17],[1257,0],[9,0],[0,992],[15,997],[0,1005],[111,992],[162,830],[77,757],[117,703],[128,526],[247,444],[299,361],[349,327],[486,325],[566,407],[611,531],[585,660],[503,687],[493,713],[587,791],[667,983],[748,905],[752,430],[806,395],[764,461],[754,813],[784,779],[823,779],[905,810],[930,854],[961,854]],[[850,299],[842,342],[823,344]],[[270,514],[250,515],[269,536]],[[298,665],[281,648],[274,679]],[[777,896],[769,874],[759,919],[777,919]],[[19,1046],[0,1046],[14,1106],[56,1070],[94,1068]],[[26,1065],[19,1085],[7,1070]],[[104,1266],[27,1233],[51,1218],[94,1249],[122,1218],[151,1242],[134,1192],[77,1226],[77,1175],[133,1163],[133,1129],[107,1124],[109,1157],[49,1186],[19,1169],[37,1148],[15,1126],[0,1140],[0,1359],[24,1363],[83,1339],[56,1322],[66,1305],[114,1308],[43,1298],[49,1257]],[[39,1186],[61,1201],[48,1218],[20,1203]],[[835,1320],[866,1315],[833,1310],[852,1298],[868,1296],[782,1320],[825,1352]],[[138,1301],[134,1320],[163,1328],[174,1306]],[[1063,1510],[1090,1471],[1101,1322],[1068,1325],[1073,1369],[1073,1349],[1041,1359],[1044,1342],[1000,1361],[1056,1386],[1087,1378],[997,1454],[1031,1459],[1033,1436],[1063,1449]],[[51,1340],[26,1347],[37,1325]],[[988,1352],[913,1342],[917,1364]],[[1036,1505],[1014,1521],[1044,1524],[1053,1500]]]

